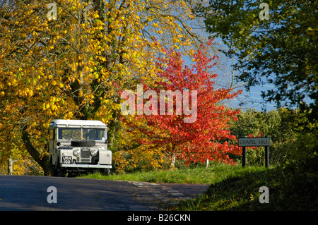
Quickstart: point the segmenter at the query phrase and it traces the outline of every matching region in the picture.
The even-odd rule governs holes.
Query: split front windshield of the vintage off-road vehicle
[[[59,128],[59,140],[105,140],[105,129]]]

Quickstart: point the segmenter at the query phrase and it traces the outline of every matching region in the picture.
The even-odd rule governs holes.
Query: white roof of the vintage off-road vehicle
[[[107,128],[105,123],[101,121],[86,121],[86,120],[71,120],[71,119],[54,119],[49,124],[50,127],[59,128],[81,128],[81,127],[92,127],[92,128]]]

